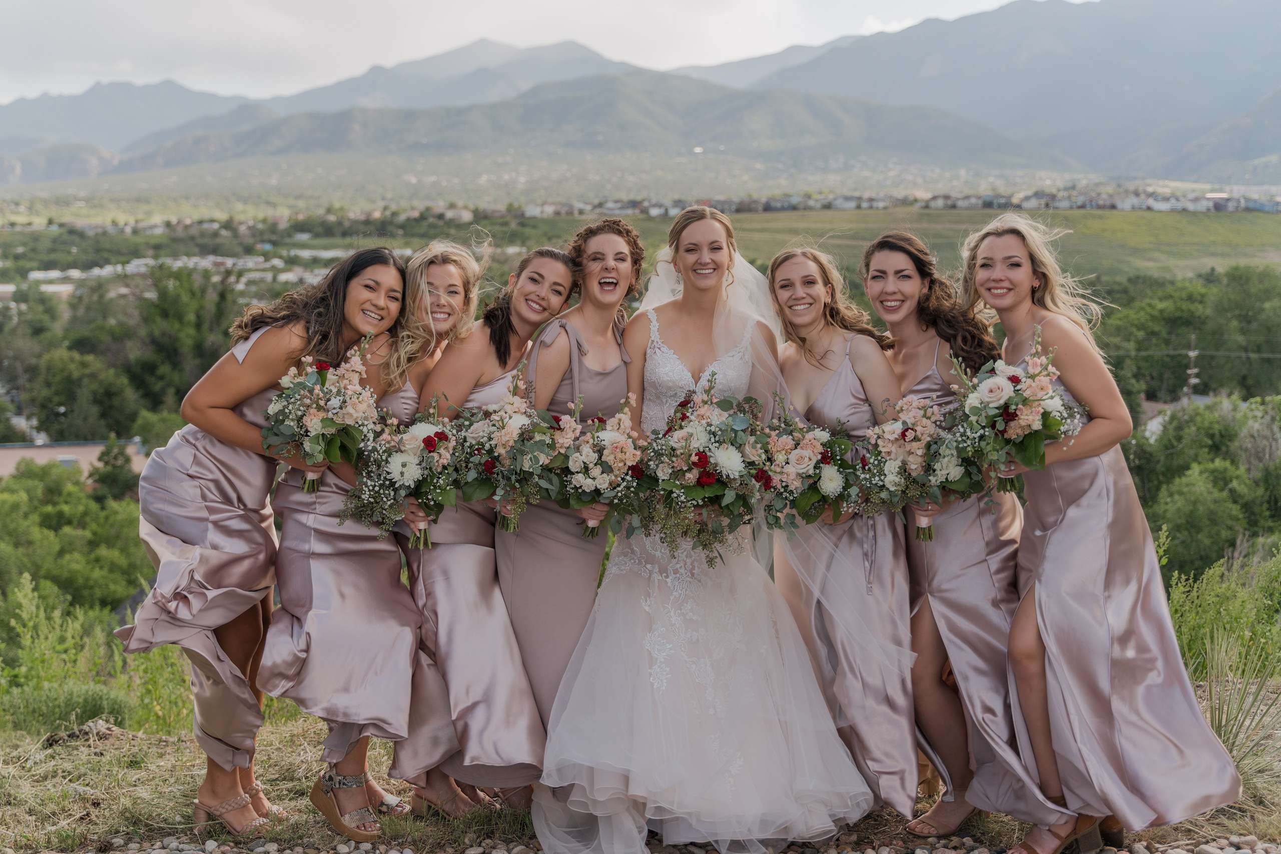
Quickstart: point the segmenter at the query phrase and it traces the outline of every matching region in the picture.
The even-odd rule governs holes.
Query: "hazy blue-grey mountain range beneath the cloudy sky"
[[[480,40],[261,100],[97,83],[0,106],[0,184],[514,146],[1281,183],[1277,32],[1276,0],[1015,0],[670,72]]]

